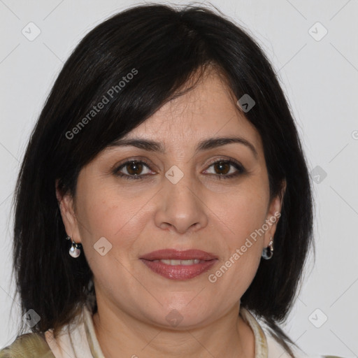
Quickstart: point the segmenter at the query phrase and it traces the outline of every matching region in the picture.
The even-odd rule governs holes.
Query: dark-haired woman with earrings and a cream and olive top
[[[24,326],[0,357],[303,357],[279,324],[312,200],[245,31],[203,7],[118,13],[69,57],[24,155]]]

